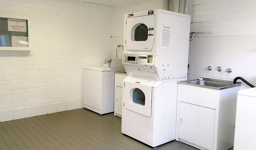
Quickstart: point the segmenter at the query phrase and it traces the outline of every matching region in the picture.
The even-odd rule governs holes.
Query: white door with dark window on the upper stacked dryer
[[[154,46],[155,15],[127,18],[126,48],[128,51],[149,52]]]

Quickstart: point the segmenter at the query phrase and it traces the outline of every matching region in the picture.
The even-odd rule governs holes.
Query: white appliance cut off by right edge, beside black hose
[[[255,149],[256,87],[240,90],[237,95],[234,150]]]

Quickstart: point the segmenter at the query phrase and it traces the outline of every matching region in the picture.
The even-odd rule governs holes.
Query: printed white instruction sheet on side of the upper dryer
[[[172,27],[162,25],[160,36],[160,48],[170,49]]]

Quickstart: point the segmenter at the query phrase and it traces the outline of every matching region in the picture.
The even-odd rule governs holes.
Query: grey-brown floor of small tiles
[[[0,149],[151,149],[121,133],[121,118],[84,108],[0,123]],[[196,150],[173,141],[159,150]]]

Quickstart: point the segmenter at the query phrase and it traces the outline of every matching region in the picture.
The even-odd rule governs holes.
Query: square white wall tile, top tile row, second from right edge
[[[231,36],[230,37],[230,50],[244,50],[245,36]]]

